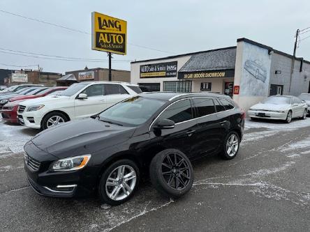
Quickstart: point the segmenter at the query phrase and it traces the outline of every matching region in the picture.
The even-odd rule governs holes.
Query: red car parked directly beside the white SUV
[[[46,95],[52,95],[52,93],[56,91],[64,91],[68,87],[52,87],[47,88],[44,91],[41,91],[38,93],[38,95],[23,95],[15,98],[11,98],[10,102],[8,102],[6,105],[3,106],[1,115],[2,119],[4,121],[8,121],[10,123],[17,123],[17,109],[18,105],[20,105],[20,102],[23,102],[24,100],[33,99],[33,98],[41,98]]]

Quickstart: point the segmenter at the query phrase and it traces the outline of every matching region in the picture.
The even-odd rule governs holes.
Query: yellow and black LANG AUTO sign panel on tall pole
[[[91,49],[126,55],[127,22],[91,13]]]

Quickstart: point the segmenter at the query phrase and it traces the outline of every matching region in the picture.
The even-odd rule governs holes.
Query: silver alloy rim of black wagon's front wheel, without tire
[[[105,183],[105,192],[113,201],[121,201],[133,192],[136,182],[135,169],[129,165],[121,165],[110,173]]]

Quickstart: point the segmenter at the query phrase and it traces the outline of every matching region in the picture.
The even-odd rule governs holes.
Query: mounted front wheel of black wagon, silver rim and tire
[[[98,193],[103,203],[118,206],[128,201],[139,185],[140,173],[135,162],[119,160],[101,176]]]

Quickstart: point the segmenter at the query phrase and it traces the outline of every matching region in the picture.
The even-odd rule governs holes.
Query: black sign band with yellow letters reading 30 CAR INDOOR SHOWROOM
[[[178,79],[200,79],[200,78],[218,78],[234,77],[235,70],[214,70],[214,71],[197,71],[197,72],[179,72]]]

